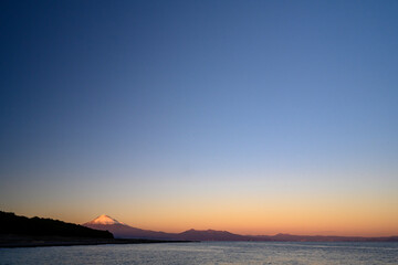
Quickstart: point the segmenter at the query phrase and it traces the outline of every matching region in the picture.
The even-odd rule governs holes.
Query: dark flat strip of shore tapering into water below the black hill
[[[0,247],[72,246],[72,245],[104,245],[104,244],[149,244],[149,243],[186,243],[186,242],[189,242],[189,241],[0,235]]]

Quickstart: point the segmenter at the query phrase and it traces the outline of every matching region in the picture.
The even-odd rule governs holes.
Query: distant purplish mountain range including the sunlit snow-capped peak
[[[165,233],[160,231],[142,230],[129,226],[108,216],[101,215],[83,224],[95,230],[107,230],[116,239],[148,239],[148,240],[177,240],[177,241],[294,241],[294,242],[389,242],[398,241],[398,236],[362,237],[362,236],[333,236],[333,235],[240,235],[228,231],[188,230],[182,233]]]

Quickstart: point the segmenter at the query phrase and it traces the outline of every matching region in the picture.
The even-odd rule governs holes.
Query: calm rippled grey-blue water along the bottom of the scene
[[[0,248],[0,264],[398,264],[398,243],[203,242]]]

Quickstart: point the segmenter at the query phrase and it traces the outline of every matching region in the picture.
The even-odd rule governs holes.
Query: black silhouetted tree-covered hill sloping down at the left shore
[[[0,234],[113,239],[108,231],[98,231],[78,224],[65,223],[52,219],[18,216],[0,211]]]

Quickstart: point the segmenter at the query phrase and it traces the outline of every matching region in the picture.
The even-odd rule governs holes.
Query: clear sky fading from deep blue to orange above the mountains
[[[398,234],[397,1],[1,1],[0,210]]]

